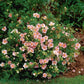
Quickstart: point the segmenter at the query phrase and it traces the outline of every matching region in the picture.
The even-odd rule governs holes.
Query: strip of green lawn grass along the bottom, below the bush
[[[12,81],[12,80],[1,80],[0,84],[84,84],[84,76],[76,76],[74,78],[60,77],[51,80],[21,80],[21,81]]]

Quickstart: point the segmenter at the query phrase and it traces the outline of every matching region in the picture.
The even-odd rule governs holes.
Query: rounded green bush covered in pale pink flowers
[[[78,56],[81,45],[70,28],[46,15],[33,13],[32,16],[23,30],[9,30],[8,37],[2,39],[1,77],[6,74],[8,78],[50,79],[64,72]],[[5,28],[2,31],[7,31]]]

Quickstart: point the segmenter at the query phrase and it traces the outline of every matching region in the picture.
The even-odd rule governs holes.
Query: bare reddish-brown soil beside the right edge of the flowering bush
[[[74,36],[80,39],[81,46],[84,46],[84,32],[78,31]],[[80,51],[80,55],[75,58],[75,62],[68,66],[68,71],[63,73],[65,77],[74,77],[84,75],[84,51]]]

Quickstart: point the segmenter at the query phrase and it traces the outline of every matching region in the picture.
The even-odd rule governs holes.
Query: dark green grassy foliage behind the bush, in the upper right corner
[[[84,28],[84,1],[53,0],[49,6],[60,22]]]

